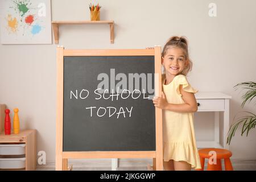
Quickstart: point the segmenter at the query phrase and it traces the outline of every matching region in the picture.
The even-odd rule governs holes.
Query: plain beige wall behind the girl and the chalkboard
[[[96,3],[52,0],[52,20],[89,20],[90,2]],[[109,43],[108,25],[102,24],[61,26],[59,45],[74,49],[145,48],[163,46],[172,35],[185,35],[194,63],[188,77],[191,84],[201,92],[232,96],[230,122],[242,110],[241,93],[233,86],[256,81],[256,1],[97,2],[102,5],[101,19],[115,22],[114,44]],[[210,2],[217,3],[216,18],[208,16]],[[56,46],[0,45],[0,103],[12,110],[19,107],[22,129],[38,130],[38,151],[46,151],[47,160],[55,159]],[[255,113],[254,104],[245,110]],[[213,114],[197,113],[195,118],[197,140],[213,138]],[[256,159],[255,137],[256,131],[247,138],[237,133],[230,146],[233,158]]]

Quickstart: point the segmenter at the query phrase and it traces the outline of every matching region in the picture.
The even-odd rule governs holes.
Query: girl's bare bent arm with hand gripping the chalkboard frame
[[[180,85],[180,93],[182,95],[185,104],[170,104],[166,100],[166,95],[162,92],[162,97],[157,97],[153,99],[153,103],[156,107],[160,109],[166,109],[170,111],[180,112],[180,113],[193,113],[197,111],[197,102],[195,95],[190,92],[185,92]]]

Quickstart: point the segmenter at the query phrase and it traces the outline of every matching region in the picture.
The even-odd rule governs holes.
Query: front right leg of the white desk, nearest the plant
[[[226,144],[226,139],[228,138],[228,131],[229,131],[229,99],[225,99],[225,111],[224,111],[224,136],[223,136],[223,144],[224,148],[229,149],[229,145]]]

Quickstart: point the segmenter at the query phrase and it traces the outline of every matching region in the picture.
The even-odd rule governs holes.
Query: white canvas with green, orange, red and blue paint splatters
[[[50,0],[0,0],[2,44],[51,44]]]

